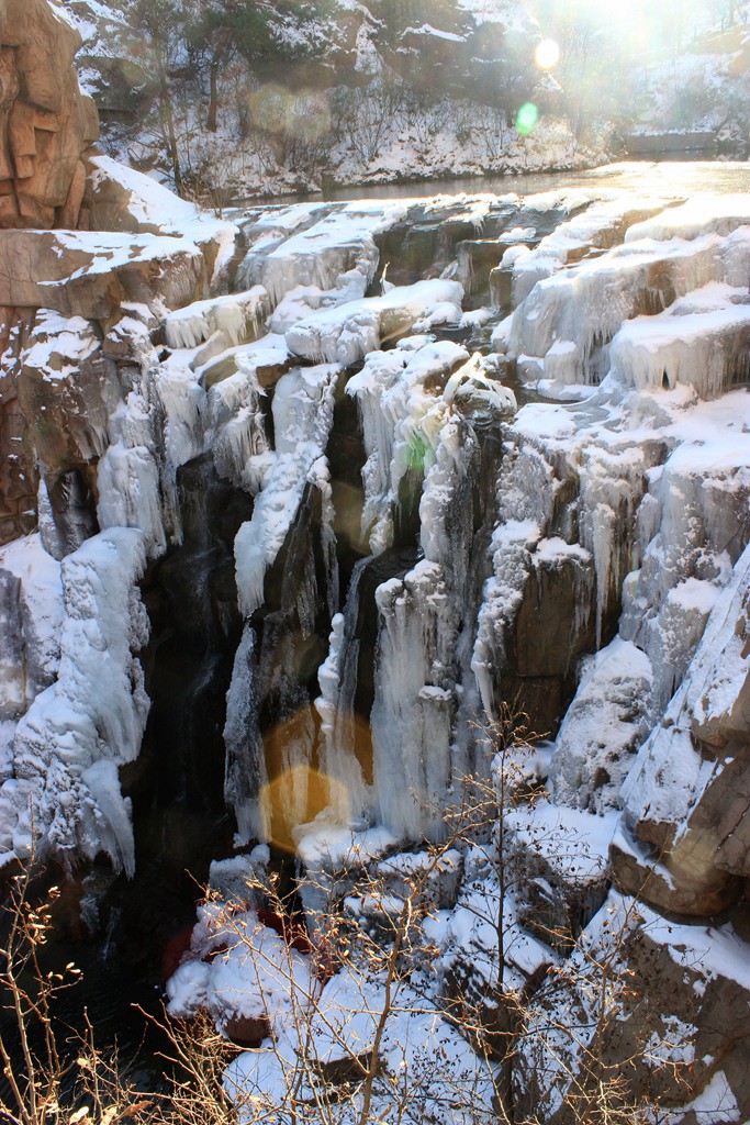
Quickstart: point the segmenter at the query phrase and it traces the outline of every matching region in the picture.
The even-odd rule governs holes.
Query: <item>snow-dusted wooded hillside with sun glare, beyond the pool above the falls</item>
[[[541,0],[66,3],[108,151],[215,206],[581,168],[659,136],[729,151],[747,140],[742,14],[729,28],[730,6],[711,0],[634,14]],[[562,51],[542,69],[550,37]]]

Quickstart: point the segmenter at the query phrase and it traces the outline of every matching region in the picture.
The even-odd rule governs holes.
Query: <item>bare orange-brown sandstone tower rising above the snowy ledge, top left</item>
[[[0,227],[75,227],[97,108],[73,68],[79,33],[54,0],[0,4]]]

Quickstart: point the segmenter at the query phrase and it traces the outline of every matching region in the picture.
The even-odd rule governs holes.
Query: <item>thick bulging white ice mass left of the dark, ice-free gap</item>
[[[105,531],[62,564],[64,614],[55,682],[20,719],[13,776],[0,789],[7,856],[36,848],[69,863],[108,855],[134,870],[117,767],[137,757],[148,713],[135,654],[148,637],[137,580],[143,536]]]

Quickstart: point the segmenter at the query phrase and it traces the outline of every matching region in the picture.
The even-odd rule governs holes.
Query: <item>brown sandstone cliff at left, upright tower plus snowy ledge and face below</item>
[[[108,420],[139,370],[134,333],[207,297],[236,234],[91,151],[69,18],[57,0],[0,0],[0,543],[44,503],[53,554],[97,531]],[[102,345],[124,305],[129,330]]]

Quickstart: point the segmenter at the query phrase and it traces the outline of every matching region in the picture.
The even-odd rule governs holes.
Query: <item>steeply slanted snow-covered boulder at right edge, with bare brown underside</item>
[[[749,582],[746,550],[681,687],[623,785],[617,881],[679,914],[731,906],[750,875]]]

